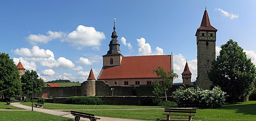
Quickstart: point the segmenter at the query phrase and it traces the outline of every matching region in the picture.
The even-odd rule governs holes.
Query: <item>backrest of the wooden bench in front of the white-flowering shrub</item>
[[[196,109],[193,109],[193,108],[165,108],[164,112],[195,114]]]

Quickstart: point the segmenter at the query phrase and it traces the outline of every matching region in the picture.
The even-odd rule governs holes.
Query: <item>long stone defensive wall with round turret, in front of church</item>
[[[179,85],[180,86],[180,85]],[[167,92],[170,96],[178,85],[173,85]],[[113,92],[111,90],[113,89]],[[46,93],[48,98],[72,97],[72,96],[154,96],[152,85],[137,86],[109,86],[104,81],[84,81],[81,86],[72,87],[43,87],[37,97]],[[163,95],[164,96],[164,95]]]

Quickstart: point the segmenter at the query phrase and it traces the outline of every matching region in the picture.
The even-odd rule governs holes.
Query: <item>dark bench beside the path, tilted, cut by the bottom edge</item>
[[[71,115],[74,116],[74,121],[80,121],[80,117],[89,119],[90,121],[100,120],[100,118],[96,118],[92,114],[86,114],[86,113],[75,112],[75,111],[70,111],[70,112],[71,112]]]

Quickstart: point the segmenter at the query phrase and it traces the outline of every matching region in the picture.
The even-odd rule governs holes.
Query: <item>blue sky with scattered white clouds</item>
[[[237,41],[256,64],[254,0],[3,0],[0,52],[35,70],[44,81],[83,82],[97,76],[116,18],[123,56],[172,54],[181,82],[187,60],[196,78],[196,38],[205,9],[217,31],[216,55]],[[125,40],[125,41],[124,41]]]

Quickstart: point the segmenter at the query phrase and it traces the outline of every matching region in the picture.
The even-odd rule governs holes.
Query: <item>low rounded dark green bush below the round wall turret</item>
[[[65,100],[65,103],[77,105],[102,105],[103,101],[100,98],[92,97],[69,97]]]

